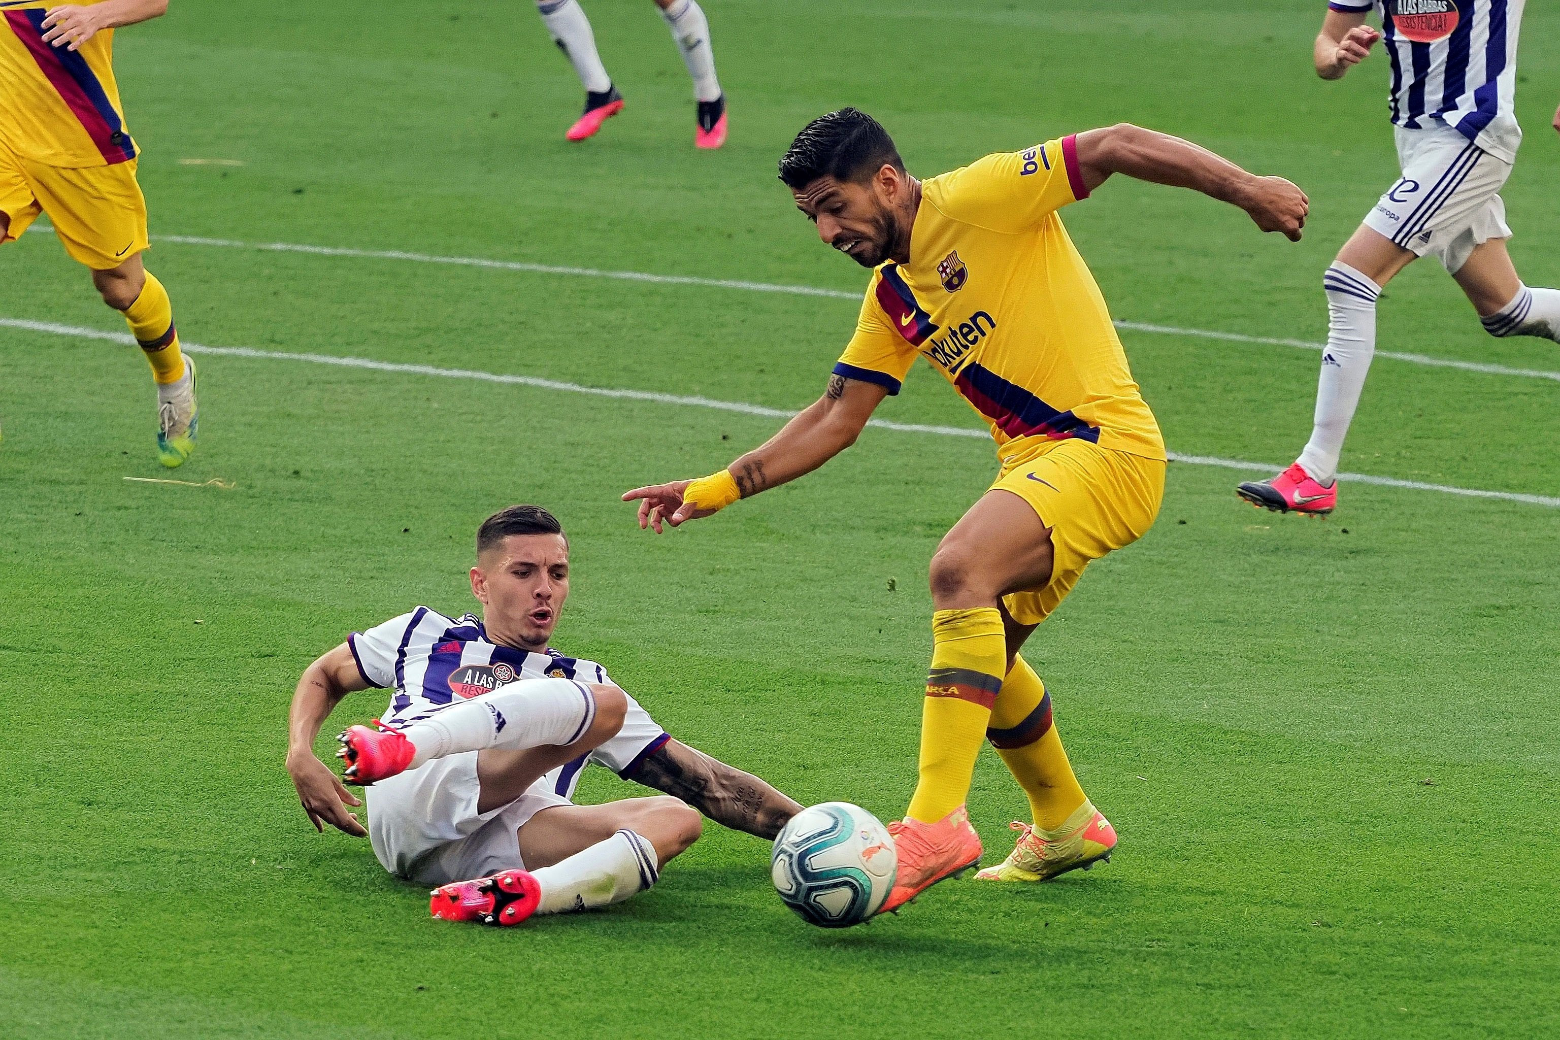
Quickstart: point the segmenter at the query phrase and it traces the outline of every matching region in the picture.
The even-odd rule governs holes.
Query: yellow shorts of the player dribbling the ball
[[[1142,538],[1159,515],[1165,463],[1083,440],[1053,441],[1003,468],[992,490],[1017,494],[1051,529],[1051,580],[1002,597],[1020,625],[1056,610],[1090,560]]]

